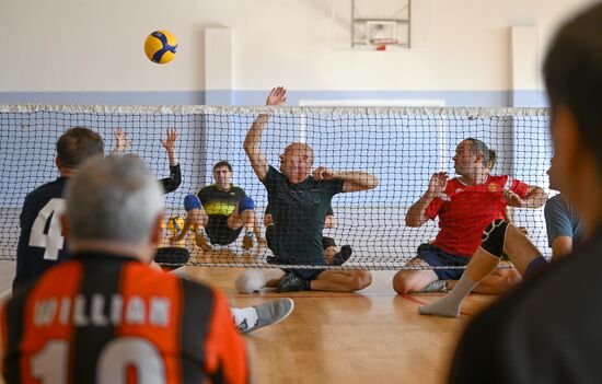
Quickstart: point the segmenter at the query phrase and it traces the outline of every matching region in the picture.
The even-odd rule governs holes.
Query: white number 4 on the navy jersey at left
[[[65,199],[54,198],[50,199],[44,208],[42,208],[35,218],[34,225],[32,226],[32,233],[30,235],[30,246],[45,248],[45,260],[58,259],[58,252],[62,249],[65,238],[62,237],[60,216],[63,211]],[[48,233],[44,233],[48,219],[50,219]]]

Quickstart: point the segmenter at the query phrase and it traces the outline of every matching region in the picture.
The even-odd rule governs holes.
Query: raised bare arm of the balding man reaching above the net
[[[278,86],[269,92],[266,105],[282,105],[286,101],[287,90],[283,86]],[[267,158],[259,147],[262,133],[264,132],[268,118],[269,116],[267,114],[261,114],[255,121],[253,121],[243,142],[243,149],[251,161],[251,166],[261,181],[266,177],[267,170],[269,168]]]

